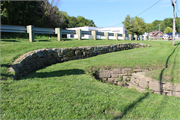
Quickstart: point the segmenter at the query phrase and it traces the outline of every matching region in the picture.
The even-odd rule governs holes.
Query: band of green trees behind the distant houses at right
[[[142,18],[133,17],[131,18],[127,15],[123,22],[129,34],[140,35],[144,32],[160,31],[164,33],[172,32],[173,28],[173,18],[165,18],[164,20],[155,20],[152,23],[145,23]],[[176,18],[176,31],[180,32],[180,18]]]

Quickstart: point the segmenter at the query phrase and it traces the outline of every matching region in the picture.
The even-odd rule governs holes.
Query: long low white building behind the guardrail
[[[110,27],[110,28],[98,28],[98,27],[75,27],[75,28],[66,28],[67,30],[78,30],[82,31],[98,31],[98,32],[109,32],[109,33],[119,33],[119,34],[127,34],[125,27]],[[67,38],[78,38],[76,34],[67,34]],[[92,39],[92,35],[82,35],[82,39]],[[106,39],[105,36],[97,35],[97,39]],[[115,39],[114,36],[109,36],[109,39]],[[123,39],[122,36],[119,36],[118,39]]]

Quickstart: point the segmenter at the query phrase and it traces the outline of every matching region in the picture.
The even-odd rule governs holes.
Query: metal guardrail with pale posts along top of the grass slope
[[[94,40],[96,40],[97,35],[100,36],[106,36],[106,39],[109,39],[109,36],[114,36],[116,40],[118,40],[118,37],[123,37],[123,40],[125,38],[129,38],[129,40],[132,40],[135,38],[137,40],[138,38],[140,40],[144,39],[147,40],[147,37],[144,37],[142,35],[131,35],[131,34],[119,34],[119,33],[108,33],[108,32],[98,32],[98,31],[81,31],[79,30],[63,30],[61,28],[40,28],[40,27],[34,27],[33,25],[29,26],[15,26],[15,25],[1,25],[1,32],[14,32],[14,33],[28,33],[29,34],[29,41],[34,42],[34,34],[57,34],[58,41],[62,40],[62,34],[77,34],[78,40],[81,40],[82,35],[93,35]]]

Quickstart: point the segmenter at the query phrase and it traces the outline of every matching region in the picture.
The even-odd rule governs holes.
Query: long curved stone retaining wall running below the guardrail
[[[13,78],[18,79],[19,77],[26,76],[29,72],[55,63],[139,47],[150,46],[142,43],[124,43],[103,46],[39,49],[20,56],[10,67],[10,71],[14,72]]]

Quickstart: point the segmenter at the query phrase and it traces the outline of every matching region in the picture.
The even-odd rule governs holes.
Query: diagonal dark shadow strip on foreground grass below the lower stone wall
[[[113,119],[122,119],[122,118],[127,114],[127,112],[128,112],[129,110],[133,109],[133,107],[134,107],[136,104],[140,103],[140,102],[141,102],[143,99],[145,99],[148,95],[149,95],[149,92],[144,93],[143,96],[139,97],[136,101],[134,101],[133,103],[131,103],[130,105],[128,105],[128,106],[125,108],[125,110],[123,111],[123,113],[121,113],[121,115],[118,115],[118,117],[115,116]]]

